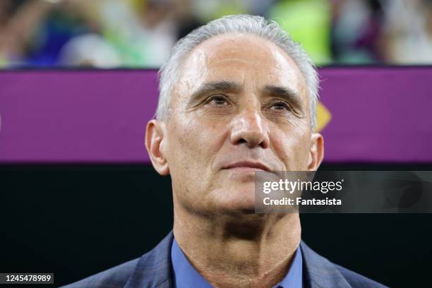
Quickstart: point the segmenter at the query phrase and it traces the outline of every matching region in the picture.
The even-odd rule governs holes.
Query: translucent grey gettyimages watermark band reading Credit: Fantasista
[[[255,211],[432,212],[432,172],[256,172]]]

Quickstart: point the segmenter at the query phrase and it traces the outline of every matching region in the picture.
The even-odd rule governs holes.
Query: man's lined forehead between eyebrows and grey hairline
[[[178,86],[189,91],[205,82],[229,80],[253,84],[288,86],[300,95],[306,84],[292,58],[276,44],[251,34],[217,35],[188,54]],[[179,91],[180,92],[180,91]]]

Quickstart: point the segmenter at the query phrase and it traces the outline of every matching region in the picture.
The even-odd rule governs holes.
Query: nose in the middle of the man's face
[[[246,144],[248,148],[268,148],[270,140],[260,107],[248,107],[233,119],[230,140],[234,145]]]

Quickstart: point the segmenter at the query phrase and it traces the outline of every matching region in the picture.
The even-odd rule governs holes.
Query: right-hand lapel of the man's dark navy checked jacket
[[[351,288],[335,265],[326,258],[319,256],[304,241],[300,243],[303,256],[303,272],[305,287],[311,288]]]

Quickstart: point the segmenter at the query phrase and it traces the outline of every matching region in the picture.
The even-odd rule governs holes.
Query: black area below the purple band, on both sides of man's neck
[[[58,287],[138,258],[172,227],[170,185],[148,165],[0,165],[0,271],[54,272]],[[335,263],[390,287],[432,287],[431,214],[307,214],[301,222],[304,241]]]

